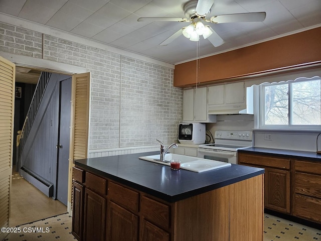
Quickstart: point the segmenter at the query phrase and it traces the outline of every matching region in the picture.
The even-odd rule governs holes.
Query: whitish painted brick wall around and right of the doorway
[[[173,86],[174,69],[1,22],[0,51],[91,72],[90,157],[177,141],[183,95]]]

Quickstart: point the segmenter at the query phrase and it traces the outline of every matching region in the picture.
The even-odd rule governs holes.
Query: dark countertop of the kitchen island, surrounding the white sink
[[[74,160],[76,166],[123,185],[175,202],[264,173],[262,168],[243,165],[197,173],[138,159],[159,152],[137,153]]]

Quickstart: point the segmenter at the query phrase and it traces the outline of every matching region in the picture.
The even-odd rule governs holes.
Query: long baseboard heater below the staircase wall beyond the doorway
[[[22,167],[20,169],[20,175],[38,188],[41,192],[43,192],[47,197],[52,197],[54,195],[54,185],[43,177],[39,176],[37,173],[29,170],[26,167]]]

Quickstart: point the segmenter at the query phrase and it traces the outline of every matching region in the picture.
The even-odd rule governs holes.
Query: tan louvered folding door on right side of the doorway
[[[87,158],[89,128],[89,92],[90,73],[72,76],[72,113],[69,151],[68,201],[72,203],[72,167],[73,160]],[[71,211],[72,207],[70,206]]]

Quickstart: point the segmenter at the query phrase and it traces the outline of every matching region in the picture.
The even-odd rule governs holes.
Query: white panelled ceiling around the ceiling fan
[[[183,35],[159,46],[190,23],[137,22],[140,17],[185,18],[188,0],[0,0],[0,12],[53,27],[169,63],[196,58],[197,43]],[[215,0],[214,15],[266,12],[263,22],[210,25],[225,43],[214,47],[201,37],[199,57],[284,34],[321,27],[321,0]],[[1,21],[1,20],[0,20]]]

